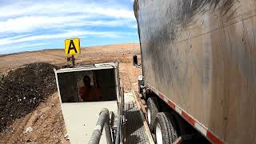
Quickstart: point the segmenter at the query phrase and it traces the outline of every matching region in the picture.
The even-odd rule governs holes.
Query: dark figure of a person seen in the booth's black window
[[[90,86],[90,77],[84,76],[82,78],[84,86],[79,89],[79,96],[82,102],[94,102],[100,99],[100,92],[97,86]]]

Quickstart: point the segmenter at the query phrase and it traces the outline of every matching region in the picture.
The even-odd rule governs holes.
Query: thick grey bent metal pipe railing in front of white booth
[[[93,131],[93,134],[90,137],[89,144],[98,144],[102,137],[103,126],[105,126],[106,133],[106,142],[107,144],[111,144],[111,134],[110,134],[110,115],[109,110],[106,108],[102,109],[99,114],[98,122],[96,124],[96,128]]]

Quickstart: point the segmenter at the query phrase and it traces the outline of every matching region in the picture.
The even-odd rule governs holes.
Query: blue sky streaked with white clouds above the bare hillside
[[[138,42],[133,0],[0,0],[0,54]]]

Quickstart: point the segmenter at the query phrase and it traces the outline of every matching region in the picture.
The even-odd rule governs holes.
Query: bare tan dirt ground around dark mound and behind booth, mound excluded
[[[138,44],[117,44],[84,48],[78,56],[78,65],[120,62],[121,85],[125,91],[137,90],[137,78],[141,70],[132,65],[132,56],[139,52]],[[58,66],[67,64],[62,50],[40,50],[22,54],[0,55],[0,73],[7,74],[31,62],[48,62]],[[31,128],[31,129],[27,129]],[[30,131],[31,130],[31,131]],[[0,133],[0,143],[69,143],[62,117],[58,94],[54,93],[41,102],[36,110],[18,118]]]

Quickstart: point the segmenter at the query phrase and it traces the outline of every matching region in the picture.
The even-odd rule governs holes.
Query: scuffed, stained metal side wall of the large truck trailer
[[[135,0],[134,13],[146,86],[212,142],[256,143],[256,1]]]

